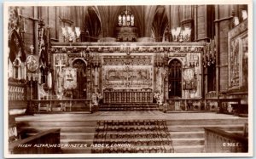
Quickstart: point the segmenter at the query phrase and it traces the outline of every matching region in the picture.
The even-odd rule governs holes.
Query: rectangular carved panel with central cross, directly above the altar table
[[[104,55],[103,89],[152,88],[152,63],[152,55]]]

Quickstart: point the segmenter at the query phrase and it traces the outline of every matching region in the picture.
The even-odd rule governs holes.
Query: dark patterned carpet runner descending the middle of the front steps
[[[164,120],[98,121],[92,153],[173,153]]]

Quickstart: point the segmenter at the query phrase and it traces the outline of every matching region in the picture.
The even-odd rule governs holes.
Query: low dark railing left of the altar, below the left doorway
[[[34,112],[74,111],[73,105],[82,105],[81,109],[91,112],[91,99],[32,99]]]

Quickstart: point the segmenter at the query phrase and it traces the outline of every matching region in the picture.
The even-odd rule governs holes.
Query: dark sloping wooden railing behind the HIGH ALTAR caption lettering
[[[61,153],[60,128],[49,129],[26,139],[9,143],[10,154],[58,154]]]

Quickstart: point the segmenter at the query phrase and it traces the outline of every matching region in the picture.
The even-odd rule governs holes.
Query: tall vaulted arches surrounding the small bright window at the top
[[[114,37],[118,16],[125,9],[134,14],[139,37],[161,37],[170,26],[168,6],[91,6],[85,9],[85,29],[91,37]]]

